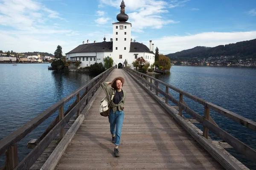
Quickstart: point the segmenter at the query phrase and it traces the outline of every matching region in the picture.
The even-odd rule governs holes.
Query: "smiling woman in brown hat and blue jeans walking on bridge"
[[[102,82],[101,86],[105,91],[107,99],[110,103],[110,112],[108,121],[110,123],[110,132],[112,135],[112,142],[115,144],[114,154],[119,156],[119,143],[121,138],[122,123],[124,120],[124,105],[126,91],[122,90],[122,86],[125,83],[125,79],[122,77],[116,77],[112,82]],[[111,85],[109,87],[108,85]],[[111,96],[115,93],[113,100]]]

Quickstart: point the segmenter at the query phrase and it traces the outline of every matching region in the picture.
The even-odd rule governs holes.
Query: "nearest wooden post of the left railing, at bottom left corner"
[[[18,164],[18,147],[16,143],[6,151],[6,170],[14,170]]]

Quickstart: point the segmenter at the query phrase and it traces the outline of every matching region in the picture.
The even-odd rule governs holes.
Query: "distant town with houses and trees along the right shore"
[[[242,59],[236,56],[220,56],[198,58],[193,57],[189,59],[180,60],[177,57],[170,57],[172,65],[207,65],[207,66],[256,66],[256,59],[247,58]]]

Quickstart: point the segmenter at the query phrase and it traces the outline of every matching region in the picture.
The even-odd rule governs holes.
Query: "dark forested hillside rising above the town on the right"
[[[256,58],[256,39],[249,41],[242,41],[228,45],[218,45],[216,47],[195,47],[189,50],[183,50],[173,54],[167,54],[169,58],[205,58],[205,57],[219,57],[219,56],[240,56],[245,58]]]

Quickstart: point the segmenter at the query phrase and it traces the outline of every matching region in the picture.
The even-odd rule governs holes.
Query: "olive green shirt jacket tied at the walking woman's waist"
[[[114,89],[108,86],[108,83],[106,82],[102,82],[101,86],[107,96],[108,101],[110,101],[110,107],[113,109],[113,113],[116,113],[116,109],[118,109],[118,111],[123,111],[124,105],[125,105],[126,91],[122,90],[124,93],[124,96],[122,100],[119,102],[119,104],[115,104],[113,103],[113,100],[111,101],[111,96],[113,94]]]

